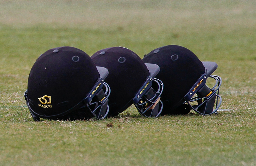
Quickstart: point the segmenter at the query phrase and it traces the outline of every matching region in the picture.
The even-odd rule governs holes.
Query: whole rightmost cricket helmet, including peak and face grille
[[[202,115],[217,113],[221,97],[221,78],[211,75],[218,67],[215,62],[201,62],[189,49],[178,45],[156,48],[142,59],[160,67],[156,78],[163,81],[162,114],[188,114],[190,110]],[[213,79],[213,88],[206,85]],[[215,108],[214,105],[216,104]]]

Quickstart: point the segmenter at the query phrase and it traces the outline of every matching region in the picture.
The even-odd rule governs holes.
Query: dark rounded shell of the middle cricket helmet
[[[105,82],[111,88],[108,116],[116,116],[132,105],[132,99],[149,76],[141,58],[125,47],[110,47],[91,56],[96,66],[108,69]]]

